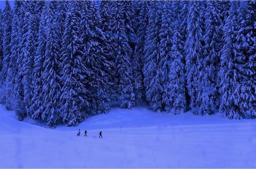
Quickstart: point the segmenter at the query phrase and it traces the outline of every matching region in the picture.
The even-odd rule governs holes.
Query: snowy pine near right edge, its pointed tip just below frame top
[[[224,117],[230,119],[241,118],[239,115],[239,103],[237,96],[239,86],[237,80],[237,70],[235,68],[235,54],[233,48],[234,41],[234,22],[235,16],[229,10],[230,14],[225,20],[224,25],[224,46],[221,50],[221,69],[218,72],[218,76],[221,80],[219,92],[221,94],[220,99],[220,111]]]

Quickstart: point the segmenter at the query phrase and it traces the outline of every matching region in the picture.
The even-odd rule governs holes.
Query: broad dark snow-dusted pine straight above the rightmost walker
[[[86,66],[84,81],[88,90],[88,112],[96,115],[107,113],[109,109],[106,105],[110,86],[107,71],[111,63],[105,57],[104,49],[108,45],[108,40],[100,29],[101,18],[95,2],[92,2],[91,10],[91,26],[87,31],[87,43],[84,44],[83,51]]]

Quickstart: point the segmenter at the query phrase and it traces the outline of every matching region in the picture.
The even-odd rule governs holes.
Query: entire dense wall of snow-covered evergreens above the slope
[[[0,102],[49,126],[141,102],[256,118],[256,1],[6,1]]]

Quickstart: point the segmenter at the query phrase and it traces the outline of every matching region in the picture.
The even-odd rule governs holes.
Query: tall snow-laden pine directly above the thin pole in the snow
[[[124,9],[121,1],[114,3],[112,18],[112,32],[114,37],[115,64],[116,64],[116,94],[117,102],[121,108],[131,108],[131,47],[125,34]]]

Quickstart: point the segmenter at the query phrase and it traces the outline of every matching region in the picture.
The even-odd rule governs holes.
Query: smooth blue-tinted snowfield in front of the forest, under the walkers
[[[256,168],[256,120],[142,106],[113,109],[77,127],[38,124],[17,121],[0,106],[0,168]],[[88,137],[77,137],[79,128]]]

